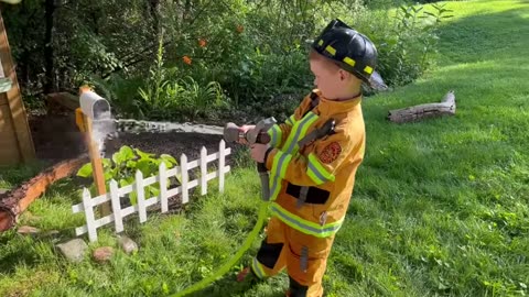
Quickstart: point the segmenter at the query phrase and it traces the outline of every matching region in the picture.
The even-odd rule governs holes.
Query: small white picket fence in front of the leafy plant
[[[166,212],[168,199],[182,194],[182,204],[190,201],[188,190],[201,186],[201,195],[207,194],[207,182],[214,178],[218,178],[218,189],[224,191],[224,178],[225,174],[230,170],[230,166],[226,166],[226,156],[231,153],[231,148],[226,148],[224,140],[219,143],[219,151],[217,153],[207,154],[206,147],[202,147],[199,160],[187,162],[187,157],[183,154],[180,158],[180,166],[166,169],[162,163],[159,167],[159,173],[155,176],[144,178],[142,173],[138,170],[136,173],[136,183],[132,185],[120,188],[116,180],[110,182],[110,191],[106,195],[101,195],[91,198],[90,191],[85,188],[83,190],[83,202],[72,207],[74,213],[85,212],[86,224],[75,229],[77,235],[88,233],[90,242],[97,241],[97,229],[106,224],[114,222],[116,233],[123,231],[123,218],[132,213],[139,213],[140,223],[147,221],[147,208],[155,204],[161,204],[161,212]],[[207,173],[207,164],[218,160],[218,169],[213,173]],[[196,167],[201,168],[201,174],[197,179],[188,180],[188,172]],[[181,175],[181,185],[175,188],[168,189],[168,179],[173,176]],[[156,197],[144,197],[143,188],[154,183],[160,183],[160,195]],[[120,197],[136,191],[138,196],[138,204],[136,206],[129,206],[121,209]],[[96,219],[94,215],[94,208],[111,201],[112,213],[109,216]]]

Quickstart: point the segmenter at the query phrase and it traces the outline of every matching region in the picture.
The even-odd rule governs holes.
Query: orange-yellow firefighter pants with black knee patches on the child
[[[276,275],[287,267],[289,276],[306,290],[306,295],[292,296],[322,297],[322,278],[333,241],[334,235],[315,238],[272,217],[251,267],[259,277]],[[290,290],[295,290],[292,280]]]

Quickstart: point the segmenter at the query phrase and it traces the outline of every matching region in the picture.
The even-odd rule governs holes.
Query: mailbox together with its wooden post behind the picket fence
[[[102,97],[94,92],[87,87],[79,89],[80,108],[76,109],[76,123],[80,132],[84,133],[85,143],[88,147],[88,154],[91,162],[94,183],[98,195],[107,194],[105,183],[105,173],[102,170],[101,155],[99,152],[99,143],[94,138],[94,120],[108,119],[110,117],[110,105]],[[110,215],[110,204],[101,205],[101,216]]]

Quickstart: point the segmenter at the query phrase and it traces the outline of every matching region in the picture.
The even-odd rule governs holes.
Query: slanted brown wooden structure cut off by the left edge
[[[35,157],[35,148],[1,11],[0,61],[0,78],[11,84],[10,88],[6,88],[7,91],[0,94],[0,164],[28,162]]]

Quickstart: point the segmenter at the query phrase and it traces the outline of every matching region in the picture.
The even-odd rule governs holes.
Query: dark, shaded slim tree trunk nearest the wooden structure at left
[[[44,94],[53,92],[55,88],[55,75],[53,69],[53,14],[55,12],[54,0],[46,0],[45,2],[45,20],[46,20],[46,32],[44,34],[44,69],[45,69],[45,81],[44,81]]]

